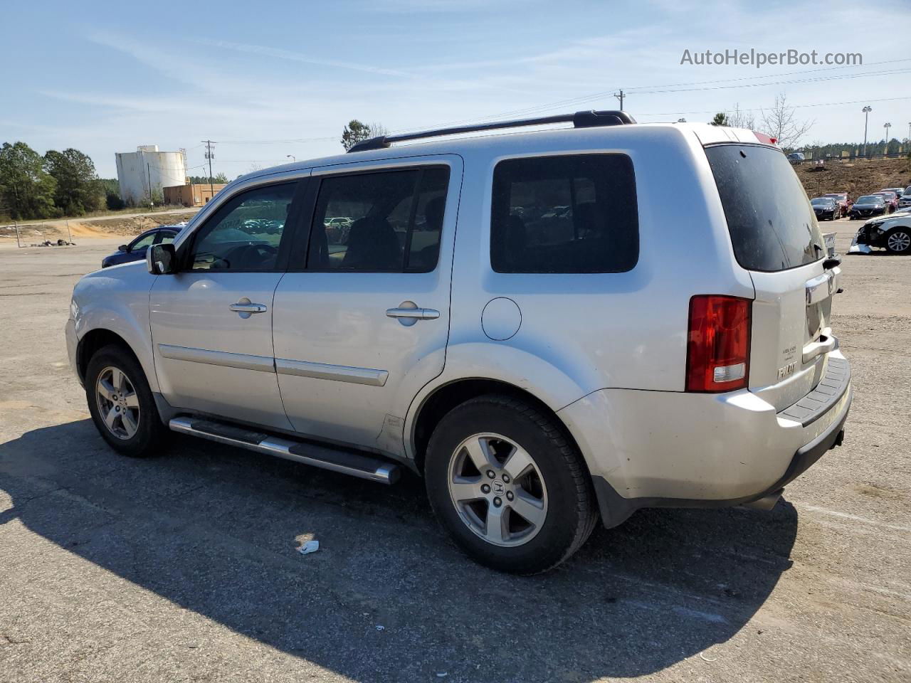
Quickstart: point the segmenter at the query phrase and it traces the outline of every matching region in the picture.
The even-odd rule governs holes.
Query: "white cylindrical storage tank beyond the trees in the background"
[[[187,182],[182,152],[159,152],[158,145],[141,145],[135,152],[118,152],[117,178],[120,199],[130,206],[143,200],[160,201],[163,189]]]

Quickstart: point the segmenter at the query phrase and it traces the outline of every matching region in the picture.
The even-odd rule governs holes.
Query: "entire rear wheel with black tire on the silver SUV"
[[[513,454],[521,463],[509,460]],[[598,521],[576,447],[552,416],[508,396],[479,396],[443,417],[427,446],[425,484],[455,543],[480,564],[511,574],[557,566]],[[497,519],[498,529],[490,524]]]

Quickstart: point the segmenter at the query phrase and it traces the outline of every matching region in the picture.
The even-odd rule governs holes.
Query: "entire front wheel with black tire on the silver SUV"
[[[119,454],[156,454],[168,430],[136,357],[118,344],[99,349],[86,371],[88,412],[101,437]]]

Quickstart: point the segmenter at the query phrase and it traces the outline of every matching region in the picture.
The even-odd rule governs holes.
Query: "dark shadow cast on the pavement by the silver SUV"
[[[784,501],[641,511],[554,572],[507,576],[460,555],[414,476],[389,488],[189,437],[131,460],[88,420],[0,444],[0,489],[0,525],[361,681],[659,671],[744,627],[797,528]]]

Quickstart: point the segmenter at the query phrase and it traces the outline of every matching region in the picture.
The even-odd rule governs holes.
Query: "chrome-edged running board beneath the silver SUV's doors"
[[[333,472],[342,474],[351,474],[372,482],[394,484],[401,474],[398,465],[387,463],[370,455],[343,451],[316,443],[292,441],[292,439],[256,432],[232,424],[180,416],[172,418],[168,426],[174,432],[192,434],[210,441],[246,448],[248,451],[277,455],[287,460],[322,467],[324,470],[333,470]]]

